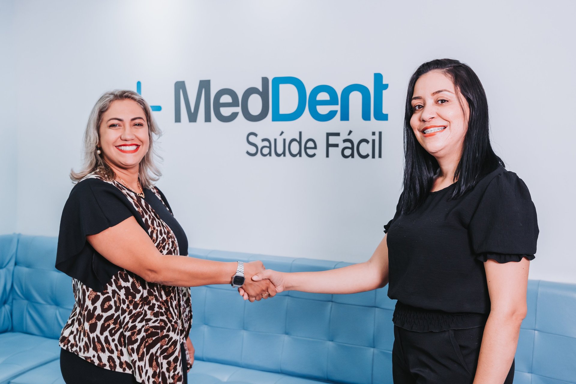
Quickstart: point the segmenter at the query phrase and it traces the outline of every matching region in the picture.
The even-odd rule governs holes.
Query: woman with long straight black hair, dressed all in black
[[[486,94],[466,64],[422,64],[404,126],[404,189],[370,260],[252,279],[331,294],[389,284],[396,384],[512,383],[539,234],[528,188],[492,150]]]

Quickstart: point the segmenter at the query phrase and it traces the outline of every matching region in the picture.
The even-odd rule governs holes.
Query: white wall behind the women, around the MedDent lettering
[[[162,106],[155,112],[165,132],[158,187],[191,246],[366,260],[384,235],[382,225],[392,217],[401,189],[408,78],[420,63],[450,57],[478,73],[490,102],[494,149],[532,193],[540,236],[530,278],[576,282],[576,5],[533,3],[13,3],[8,35],[16,53],[7,65],[16,75],[16,101],[11,93],[2,97],[15,104],[17,137],[8,142],[16,144],[18,176],[12,167],[2,172],[17,180],[17,222],[0,229],[58,234],[72,187],[67,174],[80,164],[90,109],[106,90],[135,89],[141,81],[146,100]],[[198,122],[188,123],[184,106],[183,122],[174,120],[176,81],[185,81],[194,102],[202,79],[211,80],[213,97],[221,88],[241,94],[260,88],[261,77],[281,76],[301,79],[307,92],[327,84],[339,93],[352,83],[372,89],[374,73],[389,83],[383,102],[388,121],[363,121],[358,95],[351,100],[350,121],[338,114],[319,122],[306,110],[291,122],[272,121],[269,113],[256,123],[241,115],[231,123],[213,115],[204,123],[200,112]],[[296,101],[294,94],[283,95],[287,112]],[[251,108],[259,109],[252,101]],[[336,151],[325,158],[325,133],[350,130],[355,141],[382,131],[382,158],[344,159]],[[259,138],[278,138],[281,131],[291,138],[302,131],[317,139],[319,155],[249,157],[251,131]],[[1,156],[3,164],[12,160],[14,145]]]

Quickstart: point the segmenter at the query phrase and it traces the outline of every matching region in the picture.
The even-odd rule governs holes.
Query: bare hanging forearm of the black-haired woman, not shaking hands
[[[516,315],[488,316],[473,384],[504,382],[516,353],[521,322]]]

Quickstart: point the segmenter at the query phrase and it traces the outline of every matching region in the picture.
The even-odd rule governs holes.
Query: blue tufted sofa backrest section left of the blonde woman
[[[74,305],[72,280],[54,268],[58,238],[18,235],[12,330],[58,339]]]

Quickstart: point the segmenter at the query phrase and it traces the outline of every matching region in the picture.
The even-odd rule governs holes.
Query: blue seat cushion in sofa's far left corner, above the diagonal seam
[[[20,332],[0,333],[0,384],[59,357],[58,340]]]

